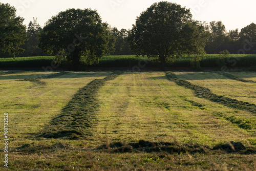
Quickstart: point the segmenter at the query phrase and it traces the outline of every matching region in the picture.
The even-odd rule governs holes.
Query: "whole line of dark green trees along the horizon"
[[[103,55],[142,55],[161,63],[182,55],[213,54],[221,44],[256,42],[256,25],[226,31],[221,21],[193,20],[189,9],[169,2],[154,3],[136,19],[131,30],[102,23],[97,11],[68,9],[41,28],[37,20],[23,25],[16,9],[0,3],[0,56],[55,55],[72,66],[92,64]]]

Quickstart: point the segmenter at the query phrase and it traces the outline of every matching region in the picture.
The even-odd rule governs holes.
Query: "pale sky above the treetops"
[[[131,29],[136,17],[150,7],[157,0],[0,0],[9,3],[17,10],[17,15],[25,18],[24,24],[28,25],[33,17],[38,18],[38,23],[44,27],[52,16],[69,8],[91,8],[97,10],[102,22],[109,23],[112,27]],[[190,8],[193,19],[209,23],[221,20],[227,31],[256,23],[256,1],[224,1],[224,0],[173,0],[183,7]]]

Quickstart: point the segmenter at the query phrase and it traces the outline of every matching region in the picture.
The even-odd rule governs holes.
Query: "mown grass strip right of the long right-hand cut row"
[[[175,74],[179,79],[208,88],[218,96],[256,104],[256,84],[253,82],[241,82],[211,72],[176,72]],[[256,73],[247,74],[247,77],[240,76],[240,78],[253,80],[256,77]]]

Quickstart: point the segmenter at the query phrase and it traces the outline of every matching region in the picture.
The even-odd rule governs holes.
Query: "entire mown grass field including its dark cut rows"
[[[8,168],[256,170],[256,73],[228,74],[1,71]]]

